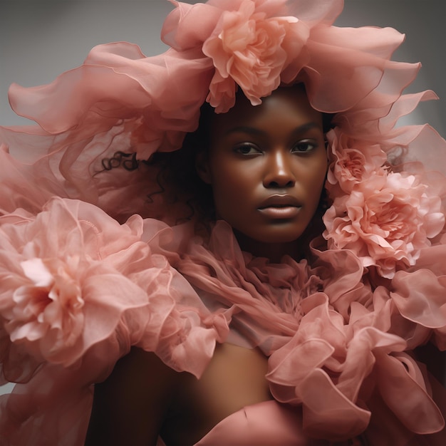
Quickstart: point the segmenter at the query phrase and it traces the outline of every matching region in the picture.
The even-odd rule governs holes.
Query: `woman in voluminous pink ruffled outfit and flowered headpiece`
[[[445,346],[445,179],[413,152],[445,142],[395,127],[434,97],[400,34],[341,9],[177,4],[166,53],[11,89],[41,128],[2,132],[4,442],[442,444],[413,350]]]

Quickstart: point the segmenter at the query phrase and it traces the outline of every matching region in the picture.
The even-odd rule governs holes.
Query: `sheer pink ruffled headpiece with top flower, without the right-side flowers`
[[[397,31],[332,26],[341,0],[174,4],[162,29],[171,48],[160,56],[146,57],[130,43],[109,43],[49,85],[11,85],[16,113],[38,125],[0,128],[3,152],[29,165],[26,175],[31,184],[45,185],[43,195],[82,199],[120,222],[138,213],[175,223],[190,209],[178,205],[171,217],[161,197],[147,206],[147,197],[160,190],[156,172],[141,166],[138,174],[106,175],[103,160],[118,151],[143,160],[157,150],[176,150],[197,127],[206,98],[225,111],[237,88],[258,104],[278,85],[295,81],[306,84],[314,108],[338,113],[338,128],[361,145],[380,144],[385,152],[403,147],[410,160],[428,157],[431,167],[443,164],[446,143],[438,135],[395,128],[420,100],[435,98],[431,92],[402,95],[419,65],[390,61],[403,41]],[[427,140],[431,151],[424,150]],[[14,178],[2,185],[5,196],[23,189]],[[46,201],[35,195],[28,198],[36,200],[28,203],[31,212]],[[12,212],[14,204],[8,204],[4,211]]]

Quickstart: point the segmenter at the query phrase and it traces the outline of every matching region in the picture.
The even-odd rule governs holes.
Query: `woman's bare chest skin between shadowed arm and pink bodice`
[[[258,349],[218,345],[202,378],[184,375],[162,427],[166,444],[193,445],[247,405],[271,400],[267,358]]]

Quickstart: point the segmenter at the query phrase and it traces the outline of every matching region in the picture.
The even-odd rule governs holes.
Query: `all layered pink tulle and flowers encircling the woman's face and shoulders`
[[[224,341],[269,356],[271,394],[301,407],[304,435],[403,445],[442,429],[411,351],[446,349],[446,142],[398,127],[436,96],[403,94],[419,65],[390,61],[402,34],[336,28],[341,9],[175,2],[166,53],[100,45],[49,85],[11,86],[37,125],[0,128],[1,380],[18,383],[0,442],[81,444],[91,386],[131,346],[199,377]],[[188,197],[172,202],[154,166],[125,169],[180,149],[205,100],[224,112],[238,89],[256,105],[295,82],[336,113],[308,259],[255,258],[224,222],[209,239],[175,226]]]

